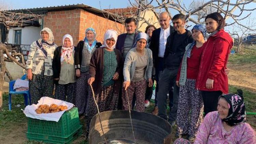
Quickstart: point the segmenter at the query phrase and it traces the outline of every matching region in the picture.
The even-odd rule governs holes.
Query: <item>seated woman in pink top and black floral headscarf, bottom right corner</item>
[[[255,131],[245,122],[242,92],[238,93],[240,96],[229,93],[219,97],[218,111],[210,112],[204,117],[194,144],[256,143]],[[177,139],[174,144],[191,144],[191,142]]]

